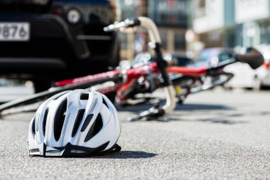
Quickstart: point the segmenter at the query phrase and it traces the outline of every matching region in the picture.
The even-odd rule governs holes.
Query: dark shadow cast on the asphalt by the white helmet
[[[100,157],[90,157],[92,159],[145,159],[156,157],[158,154],[150,152],[121,151],[115,154],[108,154]]]

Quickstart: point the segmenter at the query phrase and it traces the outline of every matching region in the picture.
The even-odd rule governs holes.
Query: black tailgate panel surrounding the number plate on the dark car
[[[85,41],[77,40],[67,23],[58,16],[50,14],[1,14],[0,22],[27,22],[31,29],[29,41],[1,41],[2,57],[61,57],[73,55],[77,58],[84,58],[89,55]],[[62,50],[65,50],[65,53]]]

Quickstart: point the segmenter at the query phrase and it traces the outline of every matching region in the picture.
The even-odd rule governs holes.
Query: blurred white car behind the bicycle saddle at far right
[[[233,73],[234,78],[227,83],[228,88],[252,88],[261,90],[270,87],[270,47],[257,48],[264,55],[264,65],[257,70],[252,70],[244,63],[233,63],[227,65],[224,70]]]

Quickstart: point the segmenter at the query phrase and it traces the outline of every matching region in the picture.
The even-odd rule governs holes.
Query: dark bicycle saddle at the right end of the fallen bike
[[[241,63],[247,63],[252,69],[257,69],[264,63],[264,56],[255,48],[247,48],[244,55],[235,55],[235,58]]]

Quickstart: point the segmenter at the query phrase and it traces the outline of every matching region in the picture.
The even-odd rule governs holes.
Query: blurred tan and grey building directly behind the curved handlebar
[[[190,17],[189,0],[119,0],[121,19],[131,16],[148,16],[157,24],[163,48],[167,53],[184,53],[185,32]],[[136,34],[121,35],[121,56],[127,59],[139,51],[146,51],[148,37],[140,30]]]

